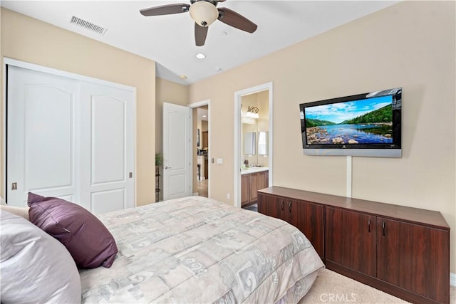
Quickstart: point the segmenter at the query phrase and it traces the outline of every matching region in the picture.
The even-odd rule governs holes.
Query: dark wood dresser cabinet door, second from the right
[[[325,219],[326,261],[375,277],[375,216],[326,207]]]

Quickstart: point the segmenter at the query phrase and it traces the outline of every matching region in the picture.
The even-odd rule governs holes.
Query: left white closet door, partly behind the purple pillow
[[[76,80],[9,65],[8,204],[26,206],[28,192],[79,201],[78,88]]]

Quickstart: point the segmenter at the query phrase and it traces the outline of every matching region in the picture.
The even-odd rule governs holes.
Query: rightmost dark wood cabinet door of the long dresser
[[[448,232],[380,217],[377,227],[378,278],[447,303],[450,296],[450,273],[445,271],[450,267]]]

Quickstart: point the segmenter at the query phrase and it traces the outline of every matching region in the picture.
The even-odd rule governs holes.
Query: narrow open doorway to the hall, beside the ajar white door
[[[209,197],[210,123],[209,100],[189,105],[192,108],[193,194]]]

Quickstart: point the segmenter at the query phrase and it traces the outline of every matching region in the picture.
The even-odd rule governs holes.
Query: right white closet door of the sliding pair
[[[82,83],[81,98],[83,201],[95,214],[133,207],[134,94]]]

